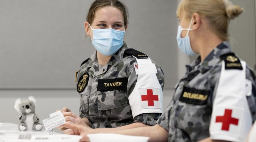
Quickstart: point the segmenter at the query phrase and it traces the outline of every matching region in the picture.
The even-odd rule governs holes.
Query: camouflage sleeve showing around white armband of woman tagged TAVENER
[[[130,95],[136,85],[138,75],[136,75],[135,68],[133,64],[136,64],[137,61],[135,60],[134,63],[131,64],[130,72],[131,74],[129,75],[128,78],[128,85],[127,85],[127,94]],[[154,63],[154,62],[153,62]],[[154,63],[156,64],[156,63]],[[163,70],[156,64],[156,69],[157,69],[157,79],[159,84],[161,85],[162,89],[164,88],[164,72]],[[138,116],[134,117],[134,123],[140,122],[143,124],[147,125],[156,125],[156,121],[159,118],[161,114],[160,113],[145,113],[145,114],[140,114]]]

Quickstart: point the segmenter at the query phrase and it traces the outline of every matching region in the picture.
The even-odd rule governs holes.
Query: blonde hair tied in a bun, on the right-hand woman
[[[191,19],[193,13],[197,13],[209,21],[217,36],[227,41],[229,19],[238,17],[243,11],[243,8],[233,5],[229,0],[181,0],[177,16],[185,12],[187,19]]]

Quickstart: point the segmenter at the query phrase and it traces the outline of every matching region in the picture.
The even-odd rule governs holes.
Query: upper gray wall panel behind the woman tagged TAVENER
[[[75,88],[75,72],[95,50],[85,41],[84,21],[92,0],[1,0],[0,88]],[[177,82],[176,1],[129,0],[128,46],[166,71],[167,88]],[[172,72],[172,73],[168,73]]]

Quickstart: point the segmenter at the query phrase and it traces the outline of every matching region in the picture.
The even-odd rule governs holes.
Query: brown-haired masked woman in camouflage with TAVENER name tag
[[[153,126],[162,114],[163,70],[147,55],[123,42],[127,24],[127,8],[120,1],[92,3],[84,26],[96,51],[76,72],[80,116],[63,108],[68,123],[124,130]],[[148,71],[143,66],[147,66]],[[139,78],[143,76],[147,78],[142,81]],[[58,129],[72,132],[64,127]]]

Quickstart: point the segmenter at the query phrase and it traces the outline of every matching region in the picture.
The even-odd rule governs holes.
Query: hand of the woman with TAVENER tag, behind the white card
[[[57,110],[57,111],[59,111],[59,110]],[[70,109],[62,108],[61,112],[64,115],[67,123],[87,126],[86,123],[81,119],[81,117],[79,117],[76,114],[74,114],[73,112],[71,112]],[[67,130],[67,128],[65,128],[63,126],[59,126],[59,127],[57,127],[57,129],[59,129],[63,133],[67,132],[67,131],[64,131],[64,130]],[[68,131],[71,131],[71,130],[68,130]]]

